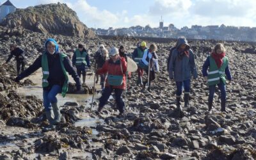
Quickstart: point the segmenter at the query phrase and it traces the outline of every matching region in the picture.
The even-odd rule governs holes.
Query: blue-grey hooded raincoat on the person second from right
[[[182,56],[182,59],[179,58],[180,53],[178,49],[182,44],[188,45],[186,38],[179,38],[177,47],[173,49],[171,60],[169,62],[169,77],[170,79],[174,78],[177,82],[191,79],[191,76],[193,76],[194,79],[197,77],[195,58],[192,50],[188,50],[189,57],[184,55]]]

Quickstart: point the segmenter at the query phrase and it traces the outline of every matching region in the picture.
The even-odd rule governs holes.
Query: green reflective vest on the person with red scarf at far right
[[[226,83],[225,68],[228,66],[228,58],[226,56],[223,57],[222,59],[223,63],[220,68],[218,68],[212,56],[209,56],[209,58],[210,58],[210,67],[208,72],[208,86],[219,84],[220,80],[225,84]]]

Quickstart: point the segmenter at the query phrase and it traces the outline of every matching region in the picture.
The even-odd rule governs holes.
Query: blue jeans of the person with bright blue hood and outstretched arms
[[[56,95],[61,92],[60,85],[53,85],[51,90],[44,90],[43,99],[44,99],[44,109],[45,111],[50,111],[52,109],[51,104],[56,103],[58,100]]]

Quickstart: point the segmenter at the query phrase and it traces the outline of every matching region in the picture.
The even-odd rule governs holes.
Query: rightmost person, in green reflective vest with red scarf
[[[207,69],[209,71],[207,72]],[[232,77],[228,67],[228,58],[225,54],[225,47],[223,44],[217,44],[211,55],[207,57],[202,68],[202,74],[209,86],[208,109],[211,112],[212,102],[215,93],[215,86],[221,92],[221,111],[226,112],[226,78],[231,81]]]

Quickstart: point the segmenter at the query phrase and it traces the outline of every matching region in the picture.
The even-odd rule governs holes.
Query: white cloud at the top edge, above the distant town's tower
[[[155,0],[154,4],[149,8],[149,13],[157,16],[183,15],[190,8],[191,4],[191,0]]]

